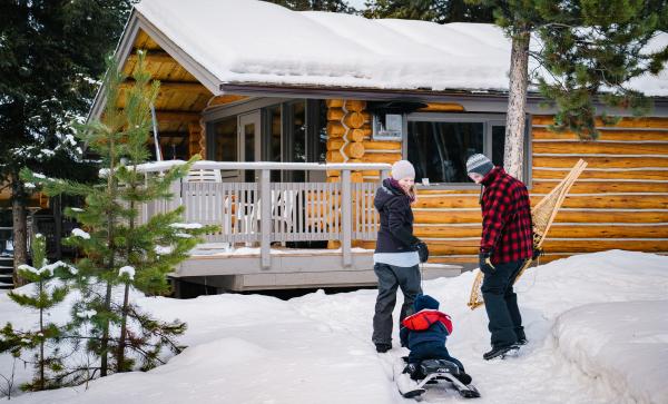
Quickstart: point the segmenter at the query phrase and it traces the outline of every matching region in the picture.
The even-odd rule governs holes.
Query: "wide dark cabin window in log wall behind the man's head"
[[[503,166],[504,119],[493,115],[410,115],[404,156],[415,167],[415,181],[470,187],[466,159],[477,152]],[[528,156],[525,149],[524,157]]]

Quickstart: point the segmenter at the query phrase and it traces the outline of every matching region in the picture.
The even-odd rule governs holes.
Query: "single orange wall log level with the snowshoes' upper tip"
[[[571,168],[582,158],[587,168],[668,167],[667,157],[533,156],[533,167]]]

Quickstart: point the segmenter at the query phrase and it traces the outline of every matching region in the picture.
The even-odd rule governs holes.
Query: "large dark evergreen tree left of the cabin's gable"
[[[70,121],[88,112],[136,0],[0,2],[0,187],[12,198],[16,267],[28,262],[23,167],[82,180]],[[19,280],[14,274],[14,277]]]

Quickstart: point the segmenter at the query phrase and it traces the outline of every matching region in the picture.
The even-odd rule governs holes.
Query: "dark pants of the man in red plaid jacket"
[[[518,307],[518,296],[512,284],[518,277],[524,260],[497,264],[494,273],[485,274],[482,280],[482,297],[490,321],[492,347],[504,347],[524,338],[522,316]]]

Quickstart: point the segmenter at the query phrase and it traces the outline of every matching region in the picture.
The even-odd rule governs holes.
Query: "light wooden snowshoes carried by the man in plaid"
[[[554,217],[557,217],[557,213],[563,204],[563,199],[568,195],[570,188],[573,186],[580,174],[587,168],[587,161],[580,159],[570,173],[548,194],[544,198],[541,199],[532,209],[531,209],[531,220],[533,224],[533,248],[540,248],[543,242],[547,238],[548,231],[552,226],[552,221],[554,221]],[[533,260],[531,258],[527,259],[520,273],[515,277],[514,282],[518,282],[520,276],[524,273],[524,270],[531,266]],[[471,296],[469,297],[469,307],[474,309],[484,304],[482,299],[482,292],[480,287],[482,286],[483,274],[480,269],[478,269],[478,274],[475,275],[475,280],[473,282],[473,286],[471,288]]]

